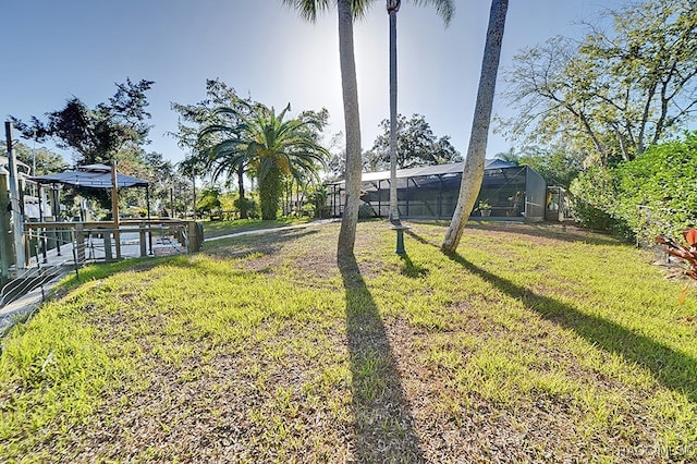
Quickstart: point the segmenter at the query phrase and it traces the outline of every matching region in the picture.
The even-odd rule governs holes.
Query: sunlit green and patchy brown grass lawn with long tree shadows
[[[697,293],[522,224],[384,222],[86,268],[3,342],[0,462],[694,462]]]

